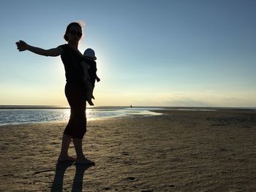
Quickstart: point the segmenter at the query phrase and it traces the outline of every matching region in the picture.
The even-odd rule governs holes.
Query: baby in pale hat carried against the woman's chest
[[[91,99],[94,99],[93,91],[94,91],[95,80],[97,80],[97,82],[100,81],[99,77],[96,74],[97,58],[95,57],[94,50],[90,48],[85,50],[85,52],[83,53],[83,56],[84,58],[81,65],[83,66],[83,72],[84,72],[83,82],[86,87],[86,101],[88,101],[90,105],[94,105]]]

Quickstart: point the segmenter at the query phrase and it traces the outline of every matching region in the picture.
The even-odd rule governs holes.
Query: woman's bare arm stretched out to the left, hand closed
[[[33,47],[31,45],[26,44],[26,42],[23,41],[18,41],[16,42],[17,45],[17,49],[19,51],[24,51],[24,50],[29,50],[32,53],[36,53],[38,55],[45,55],[45,56],[51,56],[51,57],[56,57],[61,55],[63,49],[61,47],[56,47],[50,50],[44,50],[42,48],[39,47]]]

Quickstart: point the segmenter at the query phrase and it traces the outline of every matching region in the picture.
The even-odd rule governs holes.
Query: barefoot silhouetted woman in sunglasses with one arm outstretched
[[[16,45],[19,51],[29,50],[38,55],[52,57],[61,55],[61,61],[66,72],[65,95],[70,106],[70,117],[62,137],[61,153],[58,161],[75,161],[77,164],[94,165],[93,161],[85,157],[82,150],[83,136],[86,134],[86,89],[83,80],[86,74],[83,73],[81,65],[83,54],[78,50],[78,42],[81,37],[82,27],[80,24],[69,23],[64,34],[67,44],[49,50],[33,47],[21,40],[16,42]],[[87,78],[88,80],[89,78]],[[68,155],[71,140],[75,145],[76,158]]]

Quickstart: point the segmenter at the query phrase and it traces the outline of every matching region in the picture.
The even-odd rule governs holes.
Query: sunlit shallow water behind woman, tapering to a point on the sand
[[[102,118],[131,118],[135,115],[161,115],[150,110],[161,108],[148,107],[99,107],[86,109],[87,120]],[[68,121],[70,110],[58,107],[0,107],[0,126],[17,125],[21,123],[42,123],[53,121]]]

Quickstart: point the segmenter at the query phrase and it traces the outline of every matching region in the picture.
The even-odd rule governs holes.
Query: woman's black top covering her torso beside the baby
[[[61,61],[64,64],[65,76],[67,82],[76,84],[83,83],[83,67],[80,62],[83,56],[77,51],[73,50],[69,45],[61,45],[63,53],[61,54]]]

